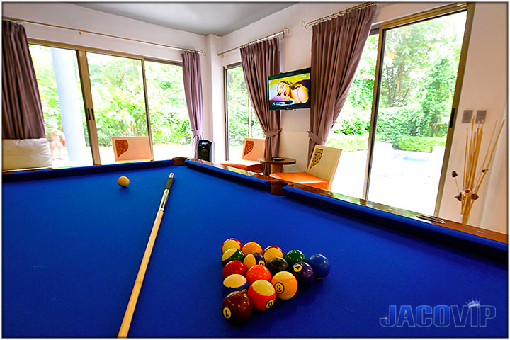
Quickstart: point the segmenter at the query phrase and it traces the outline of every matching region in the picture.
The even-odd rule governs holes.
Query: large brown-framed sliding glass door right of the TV
[[[401,18],[368,37],[327,142],[344,150],[332,191],[436,214],[469,42],[468,8]]]

